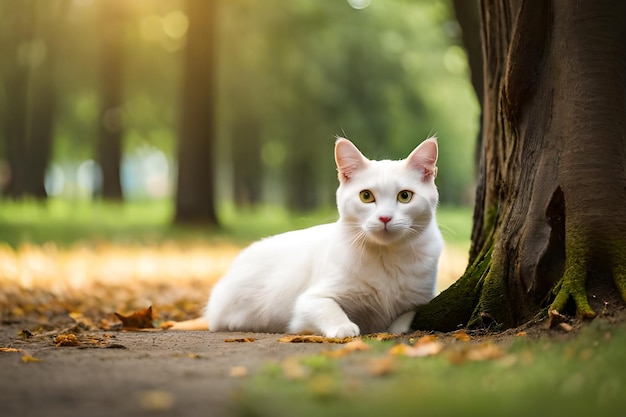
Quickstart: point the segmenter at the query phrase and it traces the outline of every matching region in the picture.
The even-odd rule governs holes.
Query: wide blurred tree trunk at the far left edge
[[[45,173],[52,153],[57,107],[58,31],[48,19],[58,22],[67,4],[57,1],[39,7],[37,2],[24,1],[3,6],[10,16],[6,24],[11,28],[5,31],[5,36],[11,37],[3,39],[10,57],[2,65],[7,100],[4,135],[10,167],[3,191],[12,198],[45,199]]]

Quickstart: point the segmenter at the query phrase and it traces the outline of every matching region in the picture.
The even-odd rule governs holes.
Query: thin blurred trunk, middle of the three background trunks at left
[[[100,5],[100,119],[96,158],[102,169],[102,197],[122,200],[123,69],[126,0]]]

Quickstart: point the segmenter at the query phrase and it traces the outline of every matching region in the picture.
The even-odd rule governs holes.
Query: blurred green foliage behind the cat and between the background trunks
[[[94,157],[101,122],[96,22],[106,0],[54,0],[64,13],[50,14],[54,21],[49,22],[46,14],[35,11],[52,1],[23,4],[32,12],[29,24],[52,25],[57,31],[59,97],[49,172],[65,173],[67,194],[76,167]],[[11,28],[24,23],[11,13],[13,3],[0,0],[4,28],[0,42],[19,45],[0,48],[0,68],[18,65],[29,73],[47,59],[51,48],[45,32],[16,37]],[[176,165],[182,49],[188,27],[185,2],[121,4],[127,8],[120,116],[125,160],[160,150],[168,160],[161,164],[170,181],[169,186],[162,185],[168,193]],[[335,135],[347,136],[368,157],[401,158],[436,134],[442,200],[471,201],[479,106],[451,4],[377,0],[359,9],[367,5],[354,0],[220,2],[219,146],[214,155],[207,155],[207,163],[217,168],[221,200],[288,202],[296,208],[329,205],[336,187]],[[0,88],[0,120],[13,100],[4,88],[7,82],[3,78]],[[3,135],[0,131],[2,144]],[[0,145],[0,163],[5,156]],[[126,177],[140,175],[136,169],[123,165],[124,169],[133,173]],[[0,181],[2,175],[6,174],[0,170]],[[238,189],[233,187],[237,178],[245,180],[243,195],[233,191]],[[257,201],[251,196],[259,189]],[[137,193],[129,190],[126,187],[126,198]]]

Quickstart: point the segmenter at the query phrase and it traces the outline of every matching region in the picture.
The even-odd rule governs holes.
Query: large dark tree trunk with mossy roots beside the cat
[[[484,99],[469,266],[416,329],[512,327],[626,299],[626,7],[482,1]]]

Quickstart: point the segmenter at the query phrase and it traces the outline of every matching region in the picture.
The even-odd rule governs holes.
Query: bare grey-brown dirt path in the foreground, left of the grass
[[[280,343],[280,335],[88,332],[81,346],[53,335],[23,339],[0,327],[3,417],[235,415],[246,374],[268,361],[336,348]],[[254,338],[254,342],[226,342]]]

